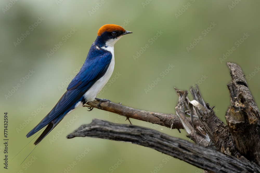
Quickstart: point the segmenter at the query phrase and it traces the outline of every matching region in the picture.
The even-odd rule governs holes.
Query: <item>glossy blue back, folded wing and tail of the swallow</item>
[[[48,125],[40,137],[35,141],[35,145],[39,143],[70,110],[75,108],[78,101],[82,101],[83,95],[88,89],[106,73],[112,59],[112,54],[108,51],[94,48],[93,44],[79,73],[70,82],[67,91],[63,94],[54,108],[26,135],[27,137],[30,137]]]

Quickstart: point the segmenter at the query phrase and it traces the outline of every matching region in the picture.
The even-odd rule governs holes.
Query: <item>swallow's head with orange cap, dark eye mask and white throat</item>
[[[97,32],[96,42],[100,45],[113,47],[123,35],[133,33],[114,24],[103,25]]]

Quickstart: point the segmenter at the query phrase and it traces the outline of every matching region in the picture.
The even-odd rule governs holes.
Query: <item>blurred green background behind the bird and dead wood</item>
[[[175,114],[178,96],[173,87],[189,91],[198,83],[205,102],[215,105],[217,116],[225,122],[230,105],[226,85],[231,80],[226,63],[234,62],[241,66],[256,103],[260,103],[259,1],[2,0],[0,4],[0,113],[8,112],[9,118],[9,165],[6,170],[1,164],[0,172],[202,172],[131,143],[66,139],[93,118],[128,123],[116,114],[97,109],[87,112],[87,108],[67,115],[22,165],[33,142],[11,160],[32,139],[25,135],[66,91],[104,24],[121,25],[133,34],[115,44],[112,82],[99,98]],[[48,57],[47,53],[53,54]],[[169,65],[174,67],[167,70]],[[115,75],[118,79],[113,79]],[[153,85],[157,78],[159,82]],[[131,121],[189,140],[184,130],[178,133]],[[3,124],[3,117],[0,122]],[[3,134],[2,125],[1,131]],[[0,147],[2,160],[3,144]],[[160,164],[163,167],[158,171]]]

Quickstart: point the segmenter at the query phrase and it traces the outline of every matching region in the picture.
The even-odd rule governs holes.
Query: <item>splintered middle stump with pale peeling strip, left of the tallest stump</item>
[[[201,146],[212,147],[224,154],[230,154],[236,156],[237,158],[240,158],[241,154],[235,149],[228,126],[226,126],[221,120],[219,120],[219,118],[215,115],[213,109],[209,106],[209,103],[204,102],[197,86],[196,89],[191,87],[190,91],[194,99],[192,101],[190,101],[187,96],[183,94],[183,91],[176,89],[176,92],[179,95],[179,100],[175,108],[176,114],[178,114],[177,111],[180,112],[180,110],[182,113],[184,113],[185,110],[182,105],[185,105],[185,108],[187,110],[190,110],[190,112],[192,110],[192,113],[198,116],[203,124],[202,126],[195,125],[195,130],[197,132],[195,133],[197,134],[196,137],[198,138],[198,136],[204,136],[204,140],[196,142],[192,138],[192,135],[188,135],[188,137],[190,137],[194,142],[198,143]],[[183,100],[185,100],[184,103],[182,103]],[[194,131],[193,129],[190,129],[189,131],[187,131],[187,129],[185,130],[188,134],[190,134],[190,131]],[[210,139],[213,145],[210,145],[210,143],[206,139],[207,137]]]

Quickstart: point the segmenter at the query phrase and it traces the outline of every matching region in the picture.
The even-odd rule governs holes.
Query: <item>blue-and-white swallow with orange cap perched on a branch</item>
[[[27,138],[47,126],[34,142],[37,145],[72,110],[97,99],[96,95],[105,86],[114,70],[114,44],[129,33],[133,32],[115,24],[100,27],[79,73],[72,79],[67,91],[53,109],[26,135]]]

